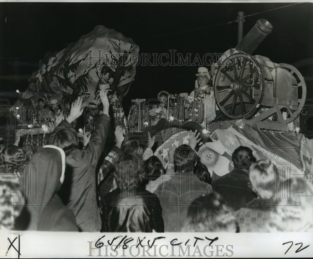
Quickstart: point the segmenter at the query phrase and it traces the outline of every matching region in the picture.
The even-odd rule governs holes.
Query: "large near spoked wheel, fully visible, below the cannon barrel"
[[[214,83],[216,104],[229,119],[253,116],[260,106],[263,91],[261,67],[249,54],[233,54],[217,71]]]

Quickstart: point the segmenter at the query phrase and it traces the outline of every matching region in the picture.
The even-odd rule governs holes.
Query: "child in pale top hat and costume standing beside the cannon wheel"
[[[207,128],[208,124],[212,122],[215,117],[215,97],[213,87],[209,85],[211,76],[208,69],[205,67],[199,67],[197,76],[197,82],[195,90],[193,90],[187,97],[187,108],[192,107],[190,113],[190,120],[198,122],[204,128]],[[189,105],[188,105],[189,103]],[[204,121],[206,125],[204,125]]]

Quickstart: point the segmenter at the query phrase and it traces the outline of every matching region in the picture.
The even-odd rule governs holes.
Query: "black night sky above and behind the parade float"
[[[238,23],[212,25],[236,20],[239,11],[250,15],[290,4],[294,3],[0,3],[1,91],[12,91],[8,97],[14,101],[15,90],[27,87],[47,52],[65,48],[96,25],[133,39],[140,53],[176,50],[203,56],[237,45]],[[246,17],[244,35],[260,18],[274,28],[254,54],[295,65],[312,99],[313,5],[300,3]],[[156,98],[161,90],[190,93],[197,69],[197,64],[137,66],[135,81],[123,99],[126,112],[131,99]]]

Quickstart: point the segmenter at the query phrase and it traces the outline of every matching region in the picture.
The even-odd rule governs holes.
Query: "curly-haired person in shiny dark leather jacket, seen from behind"
[[[118,188],[101,197],[102,231],[164,232],[160,201],[145,189],[143,163],[132,153],[116,162],[113,174]]]

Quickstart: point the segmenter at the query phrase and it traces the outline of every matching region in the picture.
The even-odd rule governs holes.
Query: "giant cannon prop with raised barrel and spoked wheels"
[[[303,76],[293,66],[252,55],[273,26],[260,19],[234,49],[213,64],[213,88],[219,117],[249,119],[260,129],[286,130],[300,114],[306,98]]]

